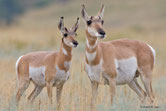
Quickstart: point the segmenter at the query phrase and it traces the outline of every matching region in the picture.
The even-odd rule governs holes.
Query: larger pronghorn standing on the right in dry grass
[[[137,95],[144,99],[147,95],[151,101],[152,70],[155,61],[155,50],[148,44],[138,40],[120,39],[109,42],[98,42],[106,37],[102,20],[104,5],[96,16],[88,16],[85,6],[82,6],[82,17],[86,23],[86,57],[85,71],[92,84],[91,108],[97,97],[100,77],[110,87],[111,103],[115,95],[116,85],[128,84]],[[100,76],[101,74],[101,76]],[[145,91],[140,87],[136,77],[141,76]]]

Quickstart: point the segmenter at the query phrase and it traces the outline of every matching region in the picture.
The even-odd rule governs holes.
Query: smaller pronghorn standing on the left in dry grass
[[[64,27],[63,17],[61,17],[58,28],[63,37],[59,52],[32,52],[21,56],[17,60],[16,72],[19,85],[16,94],[17,103],[28,88],[30,81],[32,81],[35,88],[28,97],[29,102],[33,102],[35,97],[46,87],[50,103],[52,103],[52,88],[56,87],[57,107],[60,107],[62,88],[70,75],[72,48],[78,45],[75,40],[78,25],[79,18],[71,29],[67,29]]]

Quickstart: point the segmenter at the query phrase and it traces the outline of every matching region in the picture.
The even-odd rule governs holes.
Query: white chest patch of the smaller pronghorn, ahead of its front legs
[[[61,70],[58,65],[56,65],[56,76],[55,76],[55,80],[62,80],[62,81],[66,81],[69,78],[69,71],[65,71],[65,70]]]

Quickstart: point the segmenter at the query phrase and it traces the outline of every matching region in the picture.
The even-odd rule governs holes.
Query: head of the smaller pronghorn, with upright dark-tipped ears
[[[62,33],[63,43],[69,47],[77,47],[77,45],[78,45],[78,42],[75,40],[75,37],[77,35],[76,31],[78,29],[78,25],[79,25],[79,18],[77,18],[77,21],[72,28],[67,29],[66,27],[64,27],[63,17],[61,17],[61,19],[60,19],[58,28]]]

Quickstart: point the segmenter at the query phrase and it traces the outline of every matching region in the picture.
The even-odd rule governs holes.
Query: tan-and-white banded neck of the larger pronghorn
[[[98,38],[91,36],[86,31],[86,63],[90,65],[97,65],[100,62],[101,54],[98,46]]]

